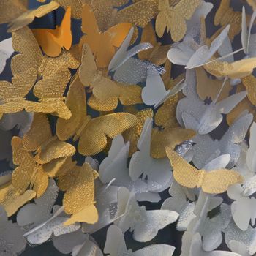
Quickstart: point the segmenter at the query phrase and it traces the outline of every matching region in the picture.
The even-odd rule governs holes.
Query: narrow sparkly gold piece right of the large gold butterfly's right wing
[[[124,140],[129,141],[129,157],[138,151],[137,143],[143,130],[143,125],[147,118],[153,118],[153,110],[151,108],[140,110],[136,113],[136,117],[138,118],[138,124],[123,133]]]

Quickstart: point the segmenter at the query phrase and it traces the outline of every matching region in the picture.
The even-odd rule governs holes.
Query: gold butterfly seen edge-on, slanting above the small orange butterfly
[[[15,7],[14,7],[15,8]],[[59,8],[59,4],[56,1],[50,1],[49,4],[41,5],[35,10],[26,10],[22,15],[18,16],[8,24],[7,32],[13,32],[18,29],[22,29],[33,22],[35,18],[42,18],[49,12]],[[4,10],[4,9],[2,9]]]

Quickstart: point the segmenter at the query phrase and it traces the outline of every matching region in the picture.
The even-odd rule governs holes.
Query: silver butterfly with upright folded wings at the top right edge
[[[251,20],[249,23],[249,28],[247,29],[246,24],[246,13],[243,7],[242,10],[242,31],[241,31],[241,42],[244,48],[244,53],[246,57],[252,58],[256,56],[256,34],[251,34],[252,25],[256,18],[256,11],[252,13]]]

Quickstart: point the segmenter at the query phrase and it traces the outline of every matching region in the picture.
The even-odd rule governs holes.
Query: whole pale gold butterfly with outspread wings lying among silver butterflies
[[[165,150],[173,167],[173,177],[181,186],[191,189],[201,187],[203,192],[219,194],[227,191],[230,185],[243,181],[243,177],[234,170],[197,170],[172,148],[166,148]]]

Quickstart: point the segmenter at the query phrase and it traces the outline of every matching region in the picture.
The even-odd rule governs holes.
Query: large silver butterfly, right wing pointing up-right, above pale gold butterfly
[[[181,126],[194,129],[200,135],[208,134],[222,122],[222,114],[230,113],[246,97],[246,91],[233,94],[220,102],[214,99],[206,105],[197,94],[195,70],[187,70],[183,93],[186,96],[178,102],[176,117]],[[225,82],[224,82],[225,83]]]

